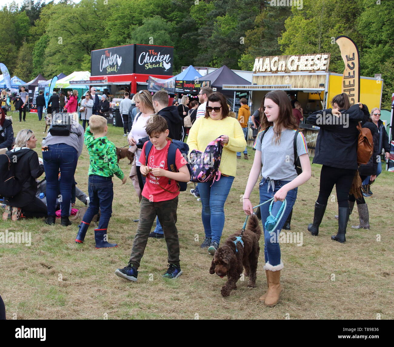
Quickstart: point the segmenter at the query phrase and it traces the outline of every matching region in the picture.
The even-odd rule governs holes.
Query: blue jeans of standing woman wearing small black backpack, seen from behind
[[[56,200],[60,189],[61,216],[70,215],[71,188],[78,161],[74,147],[65,143],[50,144],[48,151],[42,152],[46,177],[46,204],[48,216],[55,216]],[[58,174],[60,171],[60,182]]]

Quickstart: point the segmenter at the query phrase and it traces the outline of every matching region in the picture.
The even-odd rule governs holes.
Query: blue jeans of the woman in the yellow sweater
[[[224,227],[224,204],[229,195],[234,176],[221,176],[220,180],[198,184],[201,203],[203,208],[201,218],[203,219],[205,237],[212,241],[220,242]],[[211,187],[212,184],[212,187]]]

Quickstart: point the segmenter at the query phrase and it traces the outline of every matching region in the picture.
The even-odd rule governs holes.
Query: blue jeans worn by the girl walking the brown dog
[[[268,184],[268,182],[269,182],[268,180],[263,178],[259,184],[260,204],[264,203],[264,201],[273,198],[275,193],[290,181],[280,181],[280,180],[273,181],[273,183],[275,184],[274,190],[272,190],[272,185]],[[260,206],[261,222],[263,224],[263,229],[264,229],[264,258],[266,263],[269,263],[272,266],[276,266],[281,263],[281,248],[279,247],[279,233],[281,232],[281,229],[284,223],[286,222],[286,219],[290,214],[290,211],[292,210],[294,203],[296,202],[297,189],[298,188],[294,188],[288,191],[286,195],[286,210],[284,210],[284,214],[282,216],[281,221],[277,225],[276,230],[268,232],[264,227],[267,217],[269,216],[269,204],[271,202]],[[276,203],[273,203],[271,214],[274,217],[276,217],[281,206],[282,206],[281,201],[277,201]]]

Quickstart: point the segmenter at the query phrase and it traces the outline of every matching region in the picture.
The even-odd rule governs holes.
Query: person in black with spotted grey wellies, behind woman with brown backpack
[[[374,152],[369,159],[368,163],[359,166],[359,174],[361,181],[364,181],[368,176],[371,176],[371,180],[375,180],[377,167],[380,164],[380,153],[379,152],[379,131],[375,124],[372,122],[371,118],[369,122],[366,122],[362,128],[368,128],[371,131],[372,139],[374,140]],[[361,198],[357,199],[354,195],[349,195],[349,208],[350,213],[353,210],[354,202],[357,201],[357,210],[359,211],[359,225],[352,225],[354,229],[369,229],[369,212],[368,205],[365,203],[364,196],[362,195],[362,188],[360,187]]]

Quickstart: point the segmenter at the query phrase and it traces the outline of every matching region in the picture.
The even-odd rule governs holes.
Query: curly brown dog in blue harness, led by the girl
[[[243,232],[242,242],[234,244],[241,230],[227,238],[225,244],[221,246],[212,259],[210,274],[216,273],[223,278],[227,276],[227,282],[221,289],[222,296],[229,296],[232,289],[237,289],[236,283],[243,272],[245,266],[245,276],[249,276],[248,287],[256,287],[256,270],[260,246],[258,240],[261,235],[261,228],[257,216],[249,216],[247,229]],[[238,251],[237,251],[238,250]]]

